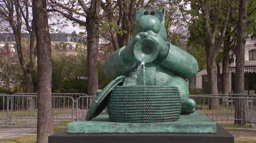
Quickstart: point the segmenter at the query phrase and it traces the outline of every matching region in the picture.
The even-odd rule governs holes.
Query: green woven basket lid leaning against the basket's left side
[[[108,99],[109,93],[113,90],[116,85],[122,85],[125,81],[125,76],[119,76],[113,81],[111,81],[103,90],[100,92],[97,97],[94,99],[90,108],[86,114],[86,120],[89,121],[96,116],[98,116],[107,106],[108,106]]]

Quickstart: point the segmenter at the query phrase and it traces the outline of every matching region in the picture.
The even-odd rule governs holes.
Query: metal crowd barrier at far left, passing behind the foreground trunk
[[[0,94],[0,126],[36,127],[38,95]],[[74,99],[71,96],[52,96],[55,127],[65,127],[74,120]]]

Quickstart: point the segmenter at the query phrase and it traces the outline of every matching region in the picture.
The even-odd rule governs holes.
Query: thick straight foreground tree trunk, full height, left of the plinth
[[[54,120],[52,114],[52,54],[46,0],[33,0],[32,7],[38,53],[37,143],[48,143],[48,136],[54,133]]]

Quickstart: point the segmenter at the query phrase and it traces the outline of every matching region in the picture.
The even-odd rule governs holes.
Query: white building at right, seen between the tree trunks
[[[220,65],[220,73],[222,74],[222,64]],[[235,69],[236,62],[230,64],[229,68],[229,93],[235,91]],[[218,83],[221,87],[221,81]],[[202,89],[205,92],[208,90],[207,84],[207,69],[201,70],[197,73],[195,78],[189,80],[189,87],[191,89]],[[245,94],[256,94],[256,39],[251,36],[246,39],[245,53],[244,53],[244,90]]]

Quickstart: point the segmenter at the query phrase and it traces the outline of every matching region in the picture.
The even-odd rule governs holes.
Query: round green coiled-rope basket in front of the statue
[[[181,101],[177,87],[116,86],[108,101],[111,121],[154,123],[177,121]]]

